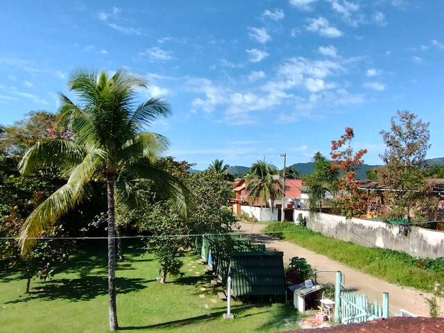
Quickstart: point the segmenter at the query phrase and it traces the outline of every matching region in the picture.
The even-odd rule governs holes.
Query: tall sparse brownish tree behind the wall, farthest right
[[[385,187],[398,190],[386,194],[386,219],[422,221],[419,212],[428,205],[428,186],[421,167],[430,147],[429,123],[417,118],[411,112],[398,111],[397,117],[391,118],[390,130],[380,132],[387,148],[381,155],[385,165],[379,168],[378,178]]]

